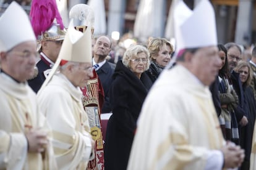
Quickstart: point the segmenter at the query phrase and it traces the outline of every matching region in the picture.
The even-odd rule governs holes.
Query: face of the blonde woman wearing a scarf
[[[155,58],[155,61],[158,65],[161,67],[166,67],[168,65],[169,61],[171,60],[171,47],[164,44],[162,47],[160,47],[160,51],[158,52],[158,55]]]

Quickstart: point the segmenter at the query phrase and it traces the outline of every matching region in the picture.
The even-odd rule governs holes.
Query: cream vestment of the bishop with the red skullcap
[[[92,144],[82,91],[56,73],[38,94],[40,108],[53,130],[53,148],[59,169],[86,169]]]

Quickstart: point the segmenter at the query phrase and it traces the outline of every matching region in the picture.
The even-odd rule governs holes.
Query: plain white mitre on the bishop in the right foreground
[[[217,45],[215,12],[208,0],[202,0],[194,10],[180,1],[174,9],[176,52],[187,48]]]

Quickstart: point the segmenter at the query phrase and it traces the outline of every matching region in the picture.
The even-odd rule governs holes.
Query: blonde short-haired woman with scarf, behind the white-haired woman
[[[154,83],[171,60],[173,46],[165,38],[153,38],[148,43],[148,51],[150,52],[151,64],[146,73]]]

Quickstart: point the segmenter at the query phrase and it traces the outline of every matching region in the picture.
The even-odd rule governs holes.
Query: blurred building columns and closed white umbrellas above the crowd
[[[43,0],[42,0],[43,1]],[[150,37],[173,36],[171,4],[179,0],[56,0],[67,26],[68,11],[85,3],[95,10],[95,36],[108,34],[113,39],[147,41]],[[200,0],[184,0],[190,7]],[[0,0],[0,15],[10,0]],[[31,0],[17,0],[29,13]],[[216,14],[218,41],[250,46],[256,42],[256,2],[254,0],[211,0]],[[15,14],[14,14],[15,15]],[[19,18],[19,16],[17,16]],[[207,23],[205,23],[207,24]],[[200,35],[198,35],[200,38]]]

